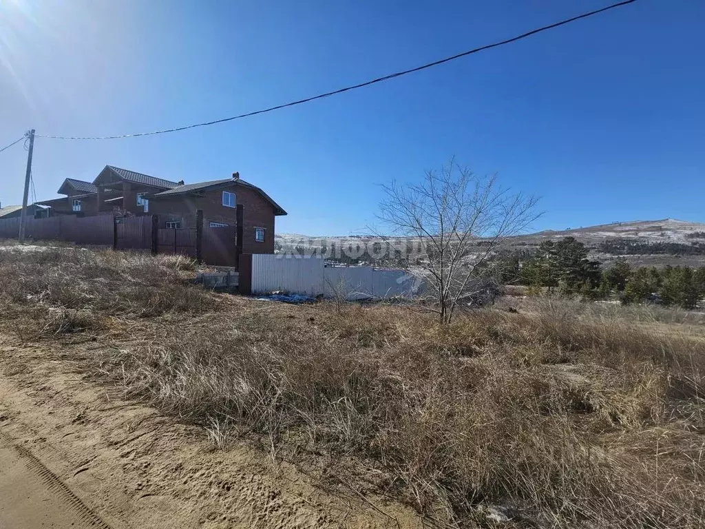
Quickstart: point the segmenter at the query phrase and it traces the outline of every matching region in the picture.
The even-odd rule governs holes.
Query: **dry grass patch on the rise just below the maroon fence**
[[[80,248],[0,251],[1,295],[7,300],[122,317],[213,310],[212,296],[185,284],[188,269],[192,260],[173,255]]]

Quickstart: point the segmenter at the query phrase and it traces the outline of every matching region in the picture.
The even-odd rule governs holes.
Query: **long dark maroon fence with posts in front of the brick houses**
[[[207,265],[237,267],[240,246],[234,226],[200,226],[190,229],[159,228],[157,215],[94,217],[73,215],[27,219],[25,237],[35,241],[66,241],[104,245],[116,250],[150,250],[152,253],[188,255]],[[20,218],[0,219],[0,238],[17,238]]]

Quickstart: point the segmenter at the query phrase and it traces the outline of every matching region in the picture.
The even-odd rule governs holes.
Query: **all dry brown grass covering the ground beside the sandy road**
[[[87,367],[223,448],[255,434],[274,451],[357,461],[376,487],[460,525],[492,526],[489,506],[517,527],[705,524],[705,333],[689,316],[660,315],[656,329],[555,300],[446,327],[405,308],[326,303],[243,301],[198,316],[216,298],[179,282],[174,295],[163,278],[178,272],[152,257],[0,259],[19,281],[2,288],[13,303],[180,311]],[[35,267],[39,279],[18,272]],[[81,278],[80,294],[57,267]],[[118,281],[159,294],[137,299]]]

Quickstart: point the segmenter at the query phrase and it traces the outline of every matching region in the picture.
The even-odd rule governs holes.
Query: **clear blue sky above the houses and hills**
[[[0,147],[111,135],[334,90],[605,6],[596,0],[0,0]],[[348,234],[378,184],[451,155],[541,197],[534,229],[705,222],[705,2],[639,0],[421,73],[271,114],[126,140],[37,138],[39,200],[106,165],[243,179],[277,230]],[[21,201],[26,153],[0,153]]]

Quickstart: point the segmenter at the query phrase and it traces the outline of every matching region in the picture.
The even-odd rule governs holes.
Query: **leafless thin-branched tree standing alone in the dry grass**
[[[425,282],[426,306],[443,323],[488,288],[502,243],[539,217],[536,197],[510,193],[496,175],[476,176],[454,159],[418,184],[383,189],[377,217],[386,233],[416,243],[407,269]]]

